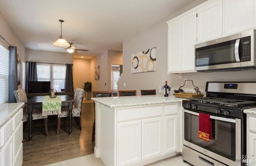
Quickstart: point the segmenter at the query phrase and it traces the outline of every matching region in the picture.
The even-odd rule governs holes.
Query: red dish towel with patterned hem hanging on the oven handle
[[[205,141],[212,139],[212,120],[208,114],[199,113],[198,138]]]

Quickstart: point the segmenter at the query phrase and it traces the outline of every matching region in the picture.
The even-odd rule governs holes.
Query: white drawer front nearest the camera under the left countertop
[[[2,127],[1,127],[1,146],[8,140],[8,138],[12,135],[13,131],[13,124],[12,119],[8,120]]]

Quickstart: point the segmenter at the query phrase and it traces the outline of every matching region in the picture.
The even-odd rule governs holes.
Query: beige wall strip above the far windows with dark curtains
[[[26,61],[73,64],[73,54],[26,49]]]

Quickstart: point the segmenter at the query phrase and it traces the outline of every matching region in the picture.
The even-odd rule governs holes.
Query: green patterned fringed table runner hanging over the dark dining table
[[[42,115],[60,115],[61,114],[61,99],[60,96],[50,98],[45,96],[42,104]]]

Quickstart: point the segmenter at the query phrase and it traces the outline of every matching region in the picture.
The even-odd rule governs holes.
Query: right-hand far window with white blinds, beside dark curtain
[[[65,88],[66,65],[53,64],[52,65],[52,88],[58,92]]]

